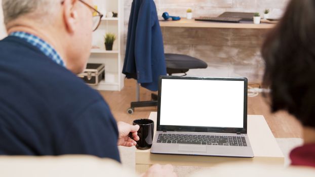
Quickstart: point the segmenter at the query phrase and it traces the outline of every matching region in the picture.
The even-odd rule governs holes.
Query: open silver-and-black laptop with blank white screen
[[[161,76],[154,154],[254,157],[247,78]]]

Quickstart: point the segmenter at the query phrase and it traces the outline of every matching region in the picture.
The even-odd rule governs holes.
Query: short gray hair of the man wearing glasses
[[[8,24],[23,15],[34,14],[36,20],[50,17],[59,0],[2,0],[4,22]]]

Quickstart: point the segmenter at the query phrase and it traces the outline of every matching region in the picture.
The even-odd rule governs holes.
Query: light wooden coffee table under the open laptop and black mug
[[[149,119],[156,125],[156,112]],[[154,134],[156,126],[154,126]],[[214,166],[225,162],[253,162],[284,164],[284,156],[262,115],[248,115],[248,137],[254,158],[212,157],[189,155],[151,154],[150,150],[136,150],[136,171],[142,173],[152,164],[172,164],[178,166]]]

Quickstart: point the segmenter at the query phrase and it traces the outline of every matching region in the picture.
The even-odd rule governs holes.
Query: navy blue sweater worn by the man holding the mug
[[[0,41],[0,154],[90,154],[120,161],[103,98],[26,41]]]

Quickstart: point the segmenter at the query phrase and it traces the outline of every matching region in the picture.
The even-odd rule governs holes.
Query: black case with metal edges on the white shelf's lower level
[[[105,79],[105,65],[100,63],[88,63],[83,73],[78,74],[89,85],[98,85]]]

